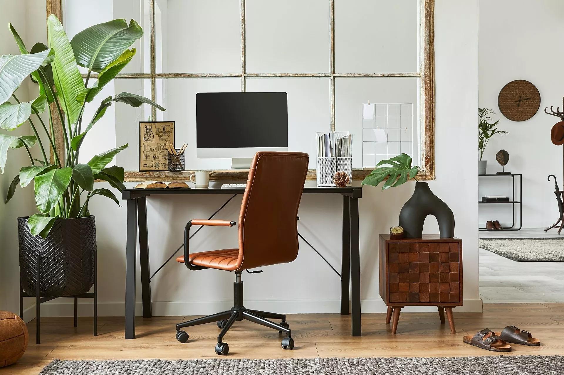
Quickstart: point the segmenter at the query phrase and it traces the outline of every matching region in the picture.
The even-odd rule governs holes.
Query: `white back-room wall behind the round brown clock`
[[[506,170],[523,174],[523,227],[547,227],[558,218],[551,173],[562,189],[562,146],[550,142],[550,128],[558,118],[544,113],[545,107],[562,110],[564,51],[558,46],[564,34],[564,2],[560,0],[481,0],[479,20],[479,106],[497,112],[500,130],[509,132],[492,138],[484,153],[488,173],[501,171],[495,160],[500,149],[509,153]],[[501,115],[497,95],[506,83],[526,79],[539,89],[540,109],[531,119],[513,122]],[[477,115],[473,114],[477,120]],[[483,194],[508,194],[509,177],[481,177]],[[486,182],[487,181],[487,182]],[[504,181],[504,182],[502,182]],[[505,182],[506,181],[506,182]],[[482,205],[487,206],[487,205]],[[507,225],[510,206],[480,207],[479,224],[500,220]]]

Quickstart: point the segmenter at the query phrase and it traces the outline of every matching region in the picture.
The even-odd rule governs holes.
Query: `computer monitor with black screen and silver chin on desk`
[[[198,158],[232,158],[233,168],[248,168],[257,151],[288,151],[287,93],[196,94]]]

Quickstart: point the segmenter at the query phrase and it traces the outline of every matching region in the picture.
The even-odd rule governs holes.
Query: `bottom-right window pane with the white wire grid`
[[[420,79],[335,78],[335,130],[352,133],[352,167],[374,167],[401,153],[420,166]],[[363,103],[376,104],[363,119]],[[386,142],[376,142],[381,128]]]

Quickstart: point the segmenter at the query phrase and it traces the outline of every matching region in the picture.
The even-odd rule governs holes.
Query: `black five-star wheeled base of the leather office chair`
[[[280,319],[281,323],[276,324],[268,320],[268,318]],[[265,327],[276,329],[279,334],[285,334],[286,337],[282,339],[283,349],[294,349],[292,330],[290,329],[288,323],[286,323],[286,315],[267,311],[250,310],[243,306],[243,282],[241,282],[241,271],[235,272],[235,283],[233,283],[233,307],[231,307],[231,310],[218,312],[217,314],[204,316],[203,318],[188,320],[188,322],[178,323],[176,325],[176,338],[179,342],[185,343],[188,341],[188,333],[180,331],[181,328],[217,322],[217,327],[221,328],[221,332],[219,332],[217,337],[215,353],[219,355],[227,355],[229,352],[229,346],[226,342],[223,342],[223,337],[237,320],[243,319],[264,325]]]

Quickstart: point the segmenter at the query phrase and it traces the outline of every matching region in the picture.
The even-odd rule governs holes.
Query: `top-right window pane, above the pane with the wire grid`
[[[418,72],[419,3],[336,0],[336,72]]]

